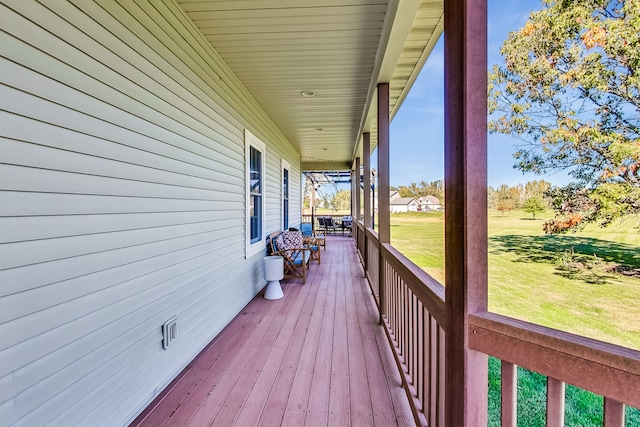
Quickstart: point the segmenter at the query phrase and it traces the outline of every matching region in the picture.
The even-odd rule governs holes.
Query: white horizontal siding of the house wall
[[[0,5],[0,419],[124,425],[264,285],[245,128],[267,233],[300,155],[173,1],[43,3]]]

